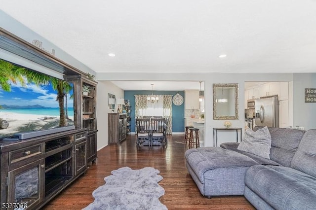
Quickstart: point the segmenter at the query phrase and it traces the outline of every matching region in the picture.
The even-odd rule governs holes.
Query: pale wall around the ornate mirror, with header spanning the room
[[[98,81],[205,81],[205,146],[213,146],[213,127],[223,127],[226,120],[213,120],[213,83],[239,84],[239,119],[230,120],[233,127],[244,128],[245,81],[292,81],[292,73],[97,73]],[[101,83],[101,82],[100,82]],[[100,87],[98,87],[100,89]],[[100,92],[106,92],[101,89]],[[99,94],[99,93],[98,93]],[[106,104],[107,105],[107,104]],[[104,106],[104,105],[100,105]],[[97,110],[98,111],[98,110]],[[98,125],[99,119],[98,119]],[[99,134],[101,136],[101,134]],[[99,137],[98,137],[99,138]],[[101,137],[100,137],[101,138]],[[103,138],[105,138],[103,136]],[[235,140],[235,138],[234,138]],[[234,141],[232,140],[232,141]]]

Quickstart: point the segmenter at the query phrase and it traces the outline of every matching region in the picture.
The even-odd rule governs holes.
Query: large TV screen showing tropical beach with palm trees
[[[72,83],[0,60],[0,139],[74,125]]]

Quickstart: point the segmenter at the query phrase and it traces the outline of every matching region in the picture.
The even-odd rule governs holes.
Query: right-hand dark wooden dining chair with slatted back
[[[152,118],[151,119],[151,127],[152,127],[152,136],[151,136],[151,144],[153,145],[161,145],[165,146],[165,122],[164,118]]]

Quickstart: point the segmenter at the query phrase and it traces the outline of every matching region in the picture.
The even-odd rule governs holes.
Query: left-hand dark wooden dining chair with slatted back
[[[137,141],[136,146],[147,145],[151,146],[151,130],[150,118],[136,118]]]

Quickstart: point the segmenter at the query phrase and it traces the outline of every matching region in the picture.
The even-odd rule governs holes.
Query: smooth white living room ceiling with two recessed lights
[[[316,0],[0,0],[0,9],[97,73],[316,72]]]

